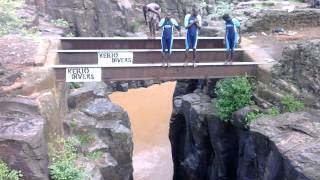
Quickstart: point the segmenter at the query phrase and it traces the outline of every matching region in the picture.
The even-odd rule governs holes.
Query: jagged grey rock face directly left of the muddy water
[[[65,132],[71,136],[88,136],[81,145],[84,153],[102,152],[97,160],[80,160],[97,179],[132,179],[132,132],[128,114],[107,98],[104,83],[85,83],[68,98],[70,113]]]

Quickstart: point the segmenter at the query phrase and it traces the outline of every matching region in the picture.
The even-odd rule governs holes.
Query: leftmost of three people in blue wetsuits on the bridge
[[[168,13],[166,13],[166,17],[162,18],[159,22],[159,28],[162,28],[162,38],[161,38],[161,46],[162,46],[162,66],[165,66],[165,60],[167,61],[167,66],[169,67],[169,59],[171,55],[171,48],[173,45],[173,28],[176,28],[181,31],[180,26],[174,18],[171,18]]]

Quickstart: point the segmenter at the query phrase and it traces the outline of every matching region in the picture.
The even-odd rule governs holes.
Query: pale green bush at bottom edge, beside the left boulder
[[[85,180],[88,179],[82,168],[79,168],[75,161],[79,157],[77,154],[75,138],[59,140],[60,148],[50,148],[52,164],[49,167],[51,178],[54,180]]]

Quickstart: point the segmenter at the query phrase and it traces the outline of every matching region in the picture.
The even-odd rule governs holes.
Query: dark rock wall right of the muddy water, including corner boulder
[[[319,112],[263,117],[248,131],[236,123],[246,109],[225,123],[211,101],[199,93],[174,98],[174,180],[319,179]]]

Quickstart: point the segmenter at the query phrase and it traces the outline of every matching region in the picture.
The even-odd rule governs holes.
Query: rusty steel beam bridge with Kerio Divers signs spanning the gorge
[[[252,49],[236,49],[234,63],[224,64],[222,37],[200,37],[197,67],[185,67],[184,38],[175,38],[171,67],[162,67],[160,38],[60,38],[59,62],[51,66],[58,81],[210,79],[256,76],[257,66],[247,55]]]

